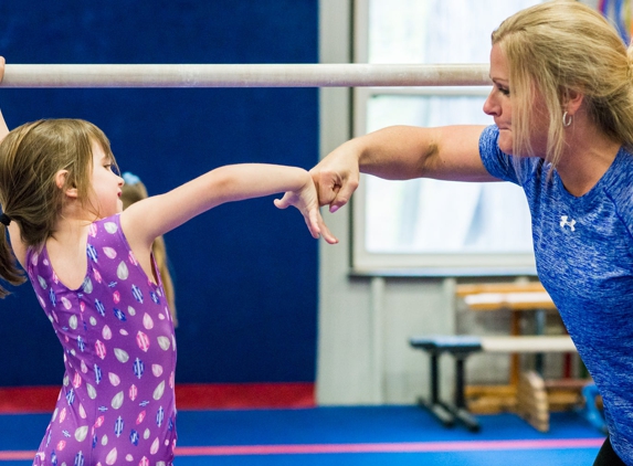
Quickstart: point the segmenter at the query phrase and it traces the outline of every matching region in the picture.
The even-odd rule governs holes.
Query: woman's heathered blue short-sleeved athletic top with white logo
[[[577,198],[542,159],[515,167],[498,136],[483,131],[482,161],[526,193],[538,275],[602,395],[613,448],[633,465],[633,155],[620,149]]]

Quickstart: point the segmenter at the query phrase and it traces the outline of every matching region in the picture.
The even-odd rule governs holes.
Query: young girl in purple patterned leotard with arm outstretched
[[[14,256],[64,349],[34,465],[172,464],[176,340],[156,237],[224,202],[286,192],[275,205],[294,205],[314,237],[336,242],[303,169],[221,167],[123,211],[116,167],[106,136],[84,120],[30,123],[0,144],[0,277],[24,280]]]

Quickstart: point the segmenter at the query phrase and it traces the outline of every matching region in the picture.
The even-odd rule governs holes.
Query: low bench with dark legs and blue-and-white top
[[[409,343],[430,354],[430,398],[420,399],[419,403],[428,409],[442,424],[453,426],[461,422],[468,430],[479,430],[478,421],[468,412],[464,398],[465,375],[464,366],[468,356],[474,352],[504,352],[504,353],[544,353],[544,352],[572,352],[576,347],[568,336],[509,336],[509,337],[475,337],[475,336],[424,336],[413,337]],[[452,354],[455,360],[455,386],[453,403],[444,402],[439,395],[440,366],[442,353]],[[535,372],[536,373],[536,372]],[[521,379],[523,380],[523,379]],[[521,382],[517,396],[519,415],[525,417],[538,430],[549,428],[549,404],[547,394],[542,401],[545,384],[535,382],[531,377]],[[529,394],[531,391],[532,394]],[[545,414],[547,415],[545,415]],[[531,422],[538,420],[538,422]]]

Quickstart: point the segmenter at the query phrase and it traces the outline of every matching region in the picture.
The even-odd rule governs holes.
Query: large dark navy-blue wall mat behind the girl
[[[9,63],[317,63],[317,0],[2,0]],[[10,127],[78,117],[150,193],[214,167],[318,159],[318,91],[1,89]],[[160,212],[156,212],[160,215]],[[222,205],[166,236],[177,381],[314,381],[317,242],[273,198]],[[59,384],[62,352],[28,285],[0,301],[0,385]]]

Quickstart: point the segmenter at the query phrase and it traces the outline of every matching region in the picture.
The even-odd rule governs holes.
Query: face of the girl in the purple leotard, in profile
[[[123,212],[120,192],[124,180],[112,170],[113,160],[104,152],[98,142],[92,142],[92,150],[91,186],[94,199],[91,199],[91,203],[97,209],[99,219],[105,219]]]

